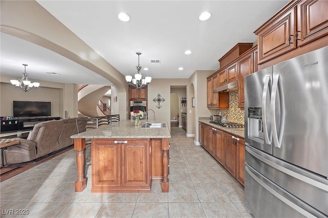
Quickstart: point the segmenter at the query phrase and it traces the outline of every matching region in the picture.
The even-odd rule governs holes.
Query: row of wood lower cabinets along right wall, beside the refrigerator
[[[233,177],[244,185],[244,139],[199,123],[199,142]]]

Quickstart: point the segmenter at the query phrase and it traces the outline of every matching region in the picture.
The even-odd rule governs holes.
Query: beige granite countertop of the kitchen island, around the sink
[[[135,126],[134,119],[120,120],[105,127],[86,131],[71,138],[171,138],[170,128],[165,120],[150,120],[149,123],[165,123],[165,128],[141,128],[146,120]]]

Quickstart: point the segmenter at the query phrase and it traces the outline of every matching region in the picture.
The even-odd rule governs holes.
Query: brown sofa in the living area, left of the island
[[[27,139],[4,152],[5,164],[22,163],[43,157],[59,149],[71,146],[71,135],[77,134],[75,118],[49,120],[38,123]]]

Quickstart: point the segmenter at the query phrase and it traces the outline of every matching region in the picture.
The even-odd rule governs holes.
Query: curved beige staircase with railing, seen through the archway
[[[101,97],[111,88],[104,85],[78,85],[78,112],[79,116],[110,115],[111,109],[101,102]]]

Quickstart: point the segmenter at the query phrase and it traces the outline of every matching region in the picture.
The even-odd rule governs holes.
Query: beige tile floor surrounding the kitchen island
[[[74,192],[74,150],[0,183],[1,217],[251,217],[243,187],[182,128],[171,128],[170,192]],[[90,149],[87,150],[90,155]],[[90,178],[91,167],[87,168]],[[22,214],[22,213],[28,214]]]

